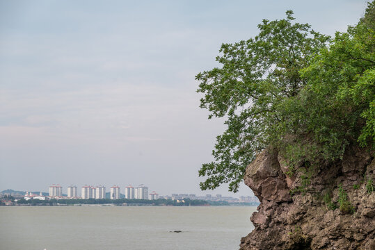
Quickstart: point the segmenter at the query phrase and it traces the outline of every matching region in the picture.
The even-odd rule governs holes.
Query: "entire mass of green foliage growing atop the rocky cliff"
[[[202,190],[229,183],[236,192],[262,149],[283,151],[289,174],[304,163],[342,159],[351,146],[375,139],[374,1],[365,17],[333,40],[285,19],[263,20],[259,35],[223,44],[221,67],[201,72],[200,108],[225,117],[214,161],[199,176]],[[307,179],[303,180],[307,181]]]

